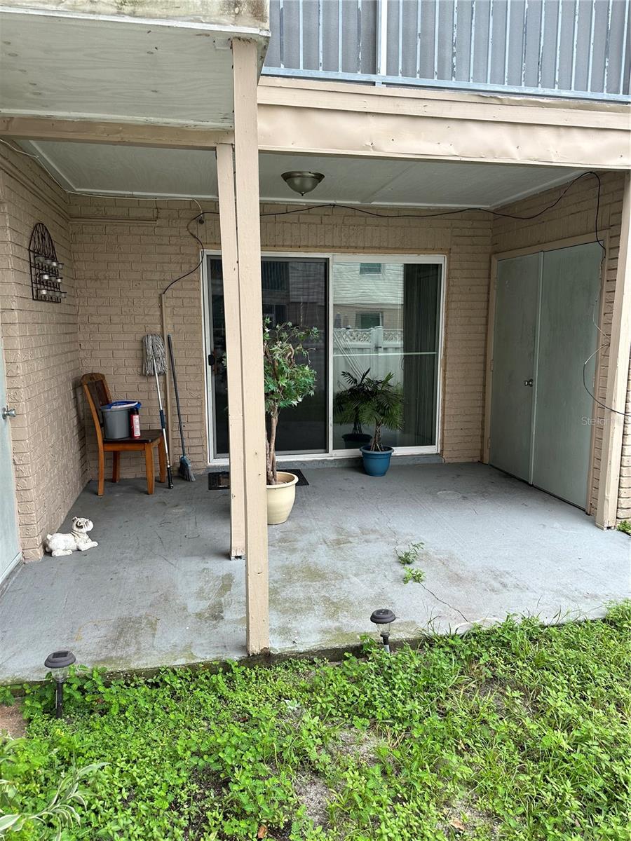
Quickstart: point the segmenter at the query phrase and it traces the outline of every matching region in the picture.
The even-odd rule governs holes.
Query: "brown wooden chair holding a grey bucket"
[[[98,444],[98,495],[103,496],[105,490],[105,453],[113,454],[112,481],[118,482],[120,478],[120,453],[121,452],[144,452],[146,467],[146,489],[147,494],[152,494],[154,489],[153,472],[153,451],[157,448],[158,462],[160,465],[160,481],[167,481],[167,451],[164,447],[162,430],[151,429],[141,432],[140,438],[119,438],[116,441],[108,441],[103,438],[103,426],[99,407],[112,402],[109,393],[108,383],[102,373],[85,373],[81,378],[83,393],[86,395],[87,405],[92,412],[94,431],[97,434]]]

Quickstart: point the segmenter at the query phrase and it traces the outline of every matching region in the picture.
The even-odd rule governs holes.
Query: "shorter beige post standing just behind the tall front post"
[[[235,164],[233,146],[217,145],[217,185],[224,277],[225,357],[228,376],[228,432],[230,440],[230,553],[246,553],[246,502],[243,476],[243,395],[241,393],[241,306],[239,256],[236,250]]]

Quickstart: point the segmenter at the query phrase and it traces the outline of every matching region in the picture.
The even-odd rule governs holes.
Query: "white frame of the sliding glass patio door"
[[[205,415],[206,415],[206,445],[207,445],[207,461],[209,467],[225,467],[228,464],[227,458],[213,458],[214,452],[214,413],[215,406],[213,405],[213,389],[212,389],[212,374],[208,364],[208,356],[210,353],[209,337],[210,337],[210,300],[209,300],[209,286],[208,286],[208,257],[221,257],[219,249],[206,249],[202,252],[202,307],[204,312],[204,384],[206,391],[205,399]],[[444,346],[445,346],[445,302],[447,300],[447,256],[445,254],[365,254],[363,252],[353,253],[344,251],[343,253],[329,252],[329,251],[274,251],[273,249],[266,249],[261,252],[261,257],[285,257],[293,260],[300,260],[304,258],[326,260],[327,268],[327,352],[328,352],[328,394],[326,406],[326,451],[325,452],[305,452],[294,455],[278,456],[278,463],[288,463],[296,461],[318,461],[321,459],[331,459],[333,461],[337,458],[352,458],[357,456],[357,449],[350,450],[336,450],[333,448],[333,377],[332,377],[332,360],[333,360],[333,269],[336,262],[394,262],[407,264],[423,264],[433,263],[441,267],[441,291],[440,291],[440,307],[439,307],[439,331],[438,331],[438,371],[437,371],[437,401],[436,401],[436,444],[427,447],[395,447],[393,457],[396,456],[414,456],[414,455],[435,455],[441,450],[443,438],[443,368],[444,368]]]

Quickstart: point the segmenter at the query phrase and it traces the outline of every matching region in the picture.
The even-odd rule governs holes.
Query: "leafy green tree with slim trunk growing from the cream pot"
[[[265,414],[268,417],[267,474],[268,484],[278,484],[276,471],[276,431],[278,413],[314,393],[315,371],[310,366],[309,352],[303,342],[318,336],[317,327],[302,329],[287,321],[270,327],[263,322],[263,379]],[[306,362],[300,362],[300,357]]]

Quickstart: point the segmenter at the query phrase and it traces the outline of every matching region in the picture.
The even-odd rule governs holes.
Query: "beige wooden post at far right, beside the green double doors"
[[[624,182],[620,226],[618,271],[613,299],[612,334],[609,344],[605,426],[602,431],[601,472],[598,483],[596,524],[613,528],[618,513],[620,463],[623,453],[623,414],[627,401],[629,353],[631,352],[631,173]],[[615,410],[615,411],[612,411]],[[616,414],[618,413],[618,414]]]

